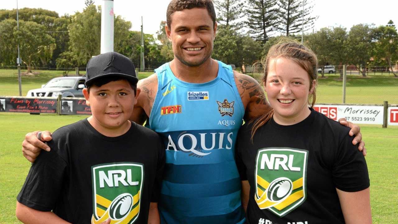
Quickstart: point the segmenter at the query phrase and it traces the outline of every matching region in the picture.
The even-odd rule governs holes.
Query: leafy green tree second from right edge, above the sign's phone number
[[[363,77],[366,77],[364,66],[371,57],[372,29],[367,24],[358,24],[351,27],[347,36],[347,62],[355,65]]]

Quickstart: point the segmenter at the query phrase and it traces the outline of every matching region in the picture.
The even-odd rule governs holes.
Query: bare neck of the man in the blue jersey
[[[169,65],[174,76],[187,83],[207,83],[217,78],[219,71],[217,61],[211,58],[199,66],[187,66],[174,58]]]

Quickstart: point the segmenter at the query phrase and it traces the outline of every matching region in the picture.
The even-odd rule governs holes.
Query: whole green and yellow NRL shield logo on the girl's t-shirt
[[[282,217],[306,197],[308,151],[292,148],[260,149],[256,157],[255,200],[260,209]]]

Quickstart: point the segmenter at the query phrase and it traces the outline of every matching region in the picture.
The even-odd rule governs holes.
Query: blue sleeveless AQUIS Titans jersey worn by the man
[[[177,79],[168,63],[155,70],[158,93],[149,126],[166,145],[159,212],[162,223],[244,223],[234,159],[244,107],[230,66],[207,83]]]

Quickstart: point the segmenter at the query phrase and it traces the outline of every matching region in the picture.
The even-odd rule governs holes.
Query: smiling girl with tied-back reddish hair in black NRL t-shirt
[[[362,153],[349,128],[312,108],[316,55],[282,42],[271,47],[263,65],[273,110],[245,124],[236,143],[247,222],[371,223]]]

